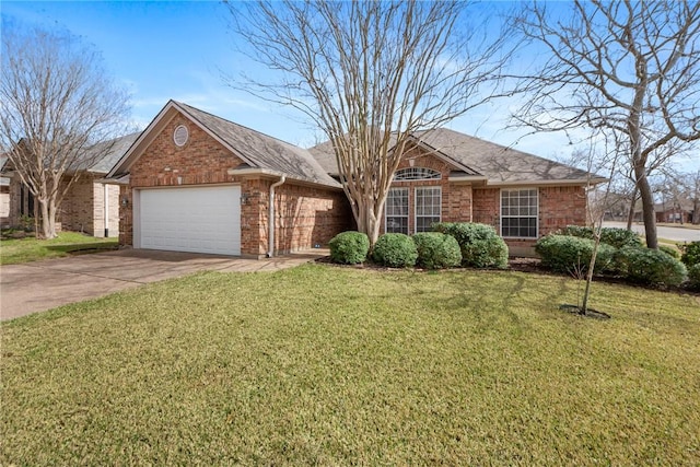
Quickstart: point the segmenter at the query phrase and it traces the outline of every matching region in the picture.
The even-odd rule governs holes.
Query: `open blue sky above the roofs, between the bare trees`
[[[93,44],[107,69],[131,93],[132,118],[139,129],[174,98],[302,147],[322,139],[303,116],[223,83],[222,70],[236,74],[252,63],[234,52],[230,13],[220,2],[2,0],[0,11],[25,24],[66,27]],[[571,152],[562,135],[503,130],[514,105],[488,104],[450,127],[547,157],[565,157]]]

